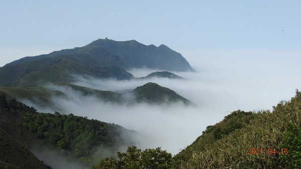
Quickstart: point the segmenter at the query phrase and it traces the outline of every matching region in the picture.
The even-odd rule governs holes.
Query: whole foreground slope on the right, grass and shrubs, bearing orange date
[[[301,93],[273,111],[235,111],[174,157],[179,168],[300,168]],[[258,149],[257,149],[258,148]]]

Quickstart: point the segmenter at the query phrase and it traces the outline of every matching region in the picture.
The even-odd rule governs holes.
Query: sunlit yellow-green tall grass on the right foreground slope
[[[298,159],[301,157],[301,145],[291,144],[300,143],[301,140],[299,137],[289,137],[295,140],[295,143],[291,143],[288,136],[294,134],[287,134],[291,132],[289,125],[300,129],[300,110],[301,93],[296,90],[295,97],[290,101],[281,101],[273,107],[272,112],[258,111],[248,125],[234,130],[207,147],[192,149],[191,157],[178,161],[178,167],[300,168]],[[293,131],[301,133],[301,130]],[[248,154],[249,148],[258,148],[259,153]],[[288,154],[284,154],[284,150]]]

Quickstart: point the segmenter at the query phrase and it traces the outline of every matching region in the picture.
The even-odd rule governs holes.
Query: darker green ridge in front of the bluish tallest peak
[[[94,59],[89,54],[79,54],[44,58],[18,65],[7,65],[0,68],[0,85],[31,87],[48,82],[71,82],[74,80],[74,75],[116,78],[118,80],[133,78],[118,64],[108,63],[108,60],[114,60],[115,57],[107,56]],[[102,61],[102,59],[105,61]]]

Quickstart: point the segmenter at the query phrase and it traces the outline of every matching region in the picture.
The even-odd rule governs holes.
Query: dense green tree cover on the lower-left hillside
[[[115,144],[125,142],[120,137],[121,127],[73,114],[26,112],[23,125],[30,132],[36,133],[38,138],[60,148],[62,153],[66,151],[78,159],[89,158],[100,145],[110,150]],[[82,162],[90,164],[94,160]]]

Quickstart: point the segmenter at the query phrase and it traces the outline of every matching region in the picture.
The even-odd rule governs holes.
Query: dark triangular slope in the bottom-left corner
[[[28,148],[0,128],[0,168],[51,169]]]

